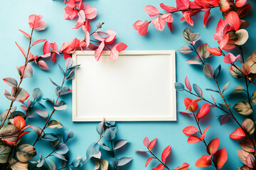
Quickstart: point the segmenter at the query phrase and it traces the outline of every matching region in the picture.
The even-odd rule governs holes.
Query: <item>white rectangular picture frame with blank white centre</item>
[[[176,121],[174,50],[73,53],[73,121]],[[146,70],[148,69],[148,70]]]

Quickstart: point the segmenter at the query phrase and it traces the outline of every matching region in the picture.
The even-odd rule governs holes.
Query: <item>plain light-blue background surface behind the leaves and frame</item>
[[[138,35],[137,31],[132,29],[132,24],[137,20],[150,19],[149,16],[144,13],[143,7],[146,5],[154,5],[159,7],[161,2],[175,6],[175,1],[157,0],[157,1],[145,1],[145,0],[91,0],[86,1],[91,6],[97,8],[97,19],[94,21],[105,22],[102,30],[109,28],[117,32],[117,41],[124,42],[128,45],[127,50],[178,50],[183,45],[187,45],[182,38],[182,31],[184,28],[191,28],[194,32],[201,33],[201,43],[208,42],[210,47],[217,47],[217,43],[213,40],[213,33],[217,26],[219,18],[223,18],[218,8],[211,10],[211,16],[208,21],[208,26],[203,27],[203,13],[196,14],[193,16],[194,25],[193,27],[188,26],[187,23],[179,21],[181,13],[174,14],[174,24],[171,33],[166,28],[161,32],[156,30],[153,25],[149,26],[149,33],[146,36]],[[255,1],[250,1],[252,9],[255,8]],[[73,30],[75,21],[68,21],[63,19],[65,4],[63,1],[52,1],[52,0],[26,0],[26,1],[0,1],[0,48],[1,48],[1,67],[0,67],[0,78],[14,77],[18,79],[16,73],[16,66],[23,64],[23,56],[15,45],[15,41],[19,43],[24,49],[27,48],[28,40],[18,31],[18,29],[24,30],[30,33],[28,26],[28,16],[36,13],[43,15],[43,20],[48,22],[48,27],[45,31],[35,31],[33,34],[33,40],[46,38],[50,42],[57,42],[58,49],[60,49],[63,42],[70,41],[73,38],[83,38],[82,30]],[[250,27],[247,28],[250,38],[246,42],[244,51],[245,56],[248,57],[255,50],[255,27],[256,22],[253,19],[255,11],[251,11],[245,20],[250,21]],[[253,22],[254,21],[254,22]],[[92,23],[92,30],[95,28],[95,24]],[[33,48],[32,52],[34,55],[41,55],[41,45],[37,45]],[[235,52],[236,53],[236,52]],[[193,56],[191,56],[193,57]],[[215,84],[211,79],[208,79],[203,75],[201,67],[191,66],[186,64],[188,56],[176,53],[176,77],[177,81],[183,82],[186,75],[191,81],[191,84],[196,83],[205,88],[216,89]],[[213,68],[217,67],[218,64],[222,64],[223,70],[220,76],[220,86],[223,86],[228,80],[232,80],[230,86],[234,87],[238,83],[244,84],[243,81],[237,81],[233,79],[228,73],[228,64],[223,63],[223,57],[212,57],[210,63]],[[54,90],[55,87],[50,84],[48,77],[52,78],[60,84],[62,81],[61,73],[58,70],[57,64],[53,64],[50,60],[47,61],[50,67],[49,72],[43,72],[38,67],[33,67],[33,78],[25,79],[22,83],[24,89],[29,93],[34,88],[39,87],[43,91],[43,97],[55,98]],[[64,65],[63,57],[58,57],[58,63]],[[0,91],[4,93],[4,89],[10,90],[9,86],[4,84],[4,81],[0,82]],[[232,91],[232,88],[228,89],[228,92]],[[211,100],[209,92],[203,91],[204,96]],[[213,94],[217,101],[221,102],[220,96]],[[183,98],[190,97],[185,93],[178,93],[177,106],[178,111],[185,111],[183,106]],[[65,126],[65,130],[74,130],[75,138],[68,142],[70,147],[70,157],[72,159],[81,155],[85,158],[85,152],[87,147],[92,142],[98,140],[99,135],[95,128],[97,123],[73,123],[71,120],[71,96],[63,98],[68,104],[66,111],[56,111],[53,115],[53,119],[60,120]],[[1,106],[0,110],[4,111],[9,108],[9,103],[3,95],[0,96]],[[238,101],[238,98],[228,98],[228,102]],[[43,101],[44,103],[44,101]],[[15,103],[16,106],[20,106],[20,103]],[[202,103],[201,103],[202,104]],[[48,112],[51,111],[48,106]],[[240,149],[238,141],[231,140],[228,136],[233,132],[238,125],[232,120],[220,126],[217,115],[222,114],[218,109],[211,109],[210,114],[201,122],[202,128],[206,128],[208,125],[212,125],[206,134],[206,141],[210,142],[211,139],[218,137],[220,139],[220,149],[226,148],[228,152],[228,162],[226,162],[223,169],[237,169],[238,166],[242,166],[236,154],[236,150]],[[244,117],[237,115],[240,122]],[[195,162],[203,154],[206,154],[206,147],[203,143],[187,144],[187,136],[181,132],[183,128],[188,125],[196,125],[194,120],[186,115],[177,113],[178,120],[176,122],[120,122],[117,123],[118,127],[118,138],[129,140],[129,145],[124,149],[117,152],[117,158],[119,157],[133,157],[132,164],[124,166],[123,169],[144,169],[144,163],[146,162],[147,156],[143,154],[137,154],[134,150],[145,149],[142,144],[144,137],[149,137],[153,140],[158,137],[158,142],[154,148],[154,152],[161,157],[161,151],[167,146],[171,145],[171,157],[169,157],[167,164],[171,169],[176,166],[181,166],[183,162],[191,164],[190,169],[195,169]],[[32,118],[29,123],[34,125],[43,126],[43,118],[36,115],[36,118]],[[62,132],[63,130],[46,130],[47,132]],[[32,135],[33,134],[33,135]],[[34,132],[31,132],[30,138],[27,138],[27,142],[33,144]],[[42,153],[44,156],[48,155],[51,151],[51,147],[48,146],[46,141],[38,142],[37,152]],[[38,156],[37,156],[38,157]],[[103,157],[110,157],[110,154],[103,154]],[[147,169],[154,168],[158,162],[153,161]],[[82,169],[92,169],[92,164],[88,162],[82,167]],[[207,168],[198,169],[213,169],[212,166]]]

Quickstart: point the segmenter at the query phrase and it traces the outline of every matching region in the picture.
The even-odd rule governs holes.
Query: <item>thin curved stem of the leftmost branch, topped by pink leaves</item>
[[[28,52],[27,52],[27,55],[26,55],[25,63],[24,63],[24,71],[25,71],[26,66],[27,66],[27,64],[28,64],[28,54],[29,54],[29,50],[31,49],[32,34],[33,34],[33,29],[31,30],[31,38],[29,38]],[[21,74],[21,78],[20,78],[20,81],[19,81],[19,83],[18,83],[18,86],[17,86],[17,88],[16,88],[15,91],[14,91],[14,97],[15,97],[15,98],[16,98],[18,89],[19,89],[19,87],[21,86],[21,82],[23,81],[23,75],[24,75],[24,73],[25,73],[24,71],[23,71],[23,73]],[[10,113],[10,111],[11,111],[11,107],[12,107],[13,104],[14,104],[15,98],[14,98],[13,101],[11,101],[11,104],[10,104],[10,106],[9,106],[9,110],[8,110],[8,112],[6,113],[6,116],[5,116],[5,118],[4,118],[4,121],[1,123],[0,129],[3,128],[4,123],[6,122],[6,119],[7,119],[8,116],[9,116],[9,113]]]

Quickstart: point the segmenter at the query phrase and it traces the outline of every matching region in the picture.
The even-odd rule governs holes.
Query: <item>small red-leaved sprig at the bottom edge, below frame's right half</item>
[[[137,150],[136,152],[143,152],[143,153],[150,153],[151,154],[152,157],[149,157],[149,159],[146,160],[145,168],[146,168],[146,166],[149,165],[149,163],[151,162],[152,159],[156,159],[156,160],[158,160],[160,162],[160,164],[158,166],[156,166],[156,168],[154,168],[152,170],[163,170],[164,168],[169,169],[169,167],[166,165],[166,159],[169,157],[169,154],[171,153],[171,145],[169,145],[168,147],[166,147],[164,149],[164,151],[161,154],[161,160],[160,160],[152,152],[152,149],[154,148],[154,145],[156,145],[156,140],[157,140],[157,138],[155,138],[154,140],[149,142],[149,138],[145,137],[144,140],[143,140],[143,144],[146,147],[146,149],[148,149],[148,150],[147,151]],[[185,162],[181,166],[178,166],[178,167],[176,167],[176,169],[173,169],[173,170],[187,170],[188,166],[189,166],[189,164],[187,164]]]

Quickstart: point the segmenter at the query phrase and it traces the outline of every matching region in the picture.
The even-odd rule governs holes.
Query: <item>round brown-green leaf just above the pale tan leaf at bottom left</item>
[[[36,156],[36,148],[32,145],[23,144],[18,147],[16,156],[20,162],[28,162]]]

